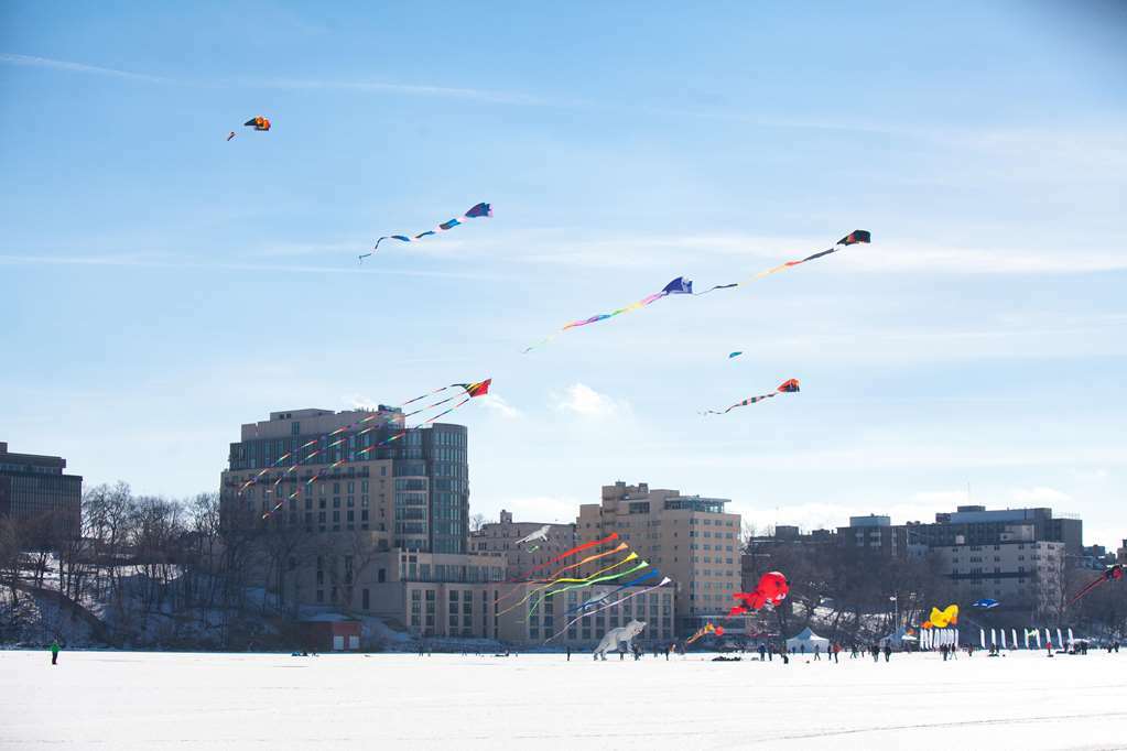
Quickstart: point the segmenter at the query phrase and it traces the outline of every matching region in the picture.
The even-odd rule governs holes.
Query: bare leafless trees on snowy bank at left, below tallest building
[[[325,536],[250,518],[224,521],[230,524],[221,529],[218,493],[169,500],[134,495],[123,482],[83,494],[79,534],[61,517],[0,518],[0,596],[7,602],[0,641],[28,617],[21,596],[51,594],[73,613],[97,611],[121,643],[237,647],[261,638],[254,624],[264,618],[293,625],[299,565],[316,556],[329,561],[326,587],[336,591],[339,584],[344,600],[372,556],[361,535],[335,536],[330,551]],[[341,545],[357,554],[329,554]]]

